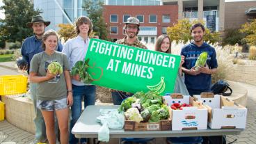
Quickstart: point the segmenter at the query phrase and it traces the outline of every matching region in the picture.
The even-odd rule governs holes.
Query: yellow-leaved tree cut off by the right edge
[[[245,42],[247,42],[249,45],[256,45],[256,19],[254,19],[252,22],[243,24],[239,31],[246,34],[246,37],[243,38]]]

